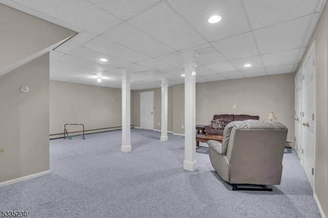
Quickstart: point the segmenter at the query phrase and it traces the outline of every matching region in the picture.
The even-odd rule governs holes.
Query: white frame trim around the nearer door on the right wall
[[[317,96],[317,89],[316,89],[316,72],[317,72],[317,54],[316,54],[316,41],[314,40],[312,45],[311,45],[311,48],[309,49],[308,53],[306,54],[305,58],[304,58],[304,62],[302,64],[302,68],[303,68],[303,76],[305,75],[305,63],[308,62],[308,59],[310,58],[311,56],[311,53],[314,52],[314,121],[313,121],[313,124],[314,124],[314,128],[313,128],[313,135],[314,135],[314,139],[313,139],[313,167],[314,167],[314,175],[313,175],[313,193],[315,193],[315,184],[316,184],[316,119],[317,119],[317,106],[316,106],[316,102],[317,102],[317,99],[316,99],[316,96]],[[302,144],[303,145],[303,144]],[[303,147],[303,146],[302,146]],[[303,167],[304,168],[304,167]]]

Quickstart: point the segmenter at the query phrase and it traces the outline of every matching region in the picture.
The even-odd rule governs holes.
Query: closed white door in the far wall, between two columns
[[[140,93],[140,128],[154,129],[154,92]]]

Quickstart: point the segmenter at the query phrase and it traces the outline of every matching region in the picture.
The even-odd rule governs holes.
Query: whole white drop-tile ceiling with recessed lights
[[[191,50],[199,53],[196,82],[293,73],[325,2],[0,0],[78,32],[51,52],[51,79],[113,88],[121,88],[121,68],[160,71],[169,84],[181,84],[180,54]],[[213,14],[222,20],[209,24]],[[245,63],[252,66],[245,68]],[[158,87],[154,80],[131,84],[132,90]]]

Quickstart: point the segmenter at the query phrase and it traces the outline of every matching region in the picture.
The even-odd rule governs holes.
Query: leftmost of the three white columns
[[[122,152],[131,152],[131,73],[122,70]]]

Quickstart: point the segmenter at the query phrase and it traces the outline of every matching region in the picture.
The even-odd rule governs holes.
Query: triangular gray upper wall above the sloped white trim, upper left
[[[0,70],[75,34],[0,4]]]

